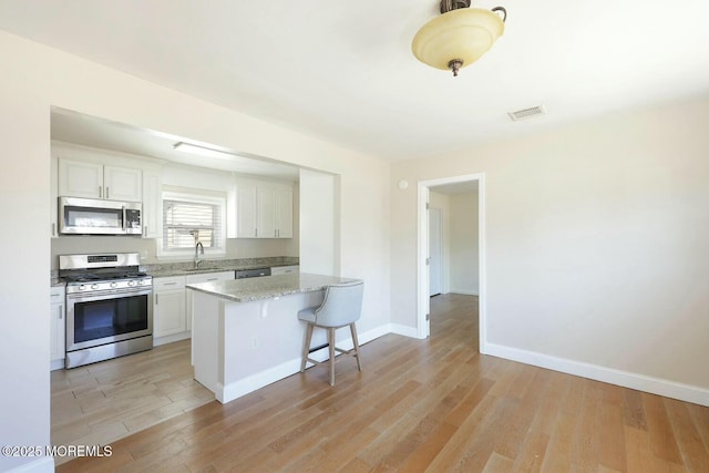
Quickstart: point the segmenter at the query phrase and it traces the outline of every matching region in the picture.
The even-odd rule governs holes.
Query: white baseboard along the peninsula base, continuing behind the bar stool
[[[358,333],[357,338],[361,346],[379,337],[382,337],[389,332],[391,332],[389,325],[383,325],[372,330]],[[354,347],[354,343],[352,342],[351,338],[347,338],[343,340],[339,340],[337,342],[337,346],[343,350],[350,350],[352,347]],[[328,357],[329,357],[329,353],[328,353],[327,347],[310,353],[310,358],[318,361],[327,360]],[[250,377],[232,382],[227,385],[217,384],[215,397],[219,402],[224,404],[229,401],[234,401],[235,399],[238,399],[243,395],[246,395],[249,392],[254,392],[257,389],[260,389],[273,382],[279,381],[284,378],[288,378],[289,376],[295,374],[299,371],[300,371],[300,357],[288,360],[284,363],[278,364],[277,367],[258,372]]]

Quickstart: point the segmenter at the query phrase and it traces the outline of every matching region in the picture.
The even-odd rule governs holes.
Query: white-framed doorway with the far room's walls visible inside
[[[431,336],[430,315],[439,310],[434,299],[476,302],[474,331],[485,352],[485,186],[483,174],[419,182],[418,207],[418,321],[419,338]],[[453,204],[449,206],[448,202]],[[441,208],[448,207],[448,208]],[[455,236],[446,235],[455,227]],[[439,228],[441,232],[439,234]],[[436,241],[438,239],[438,241]],[[432,245],[433,244],[433,245]],[[436,261],[436,245],[440,260]],[[440,278],[440,279],[439,279]],[[440,288],[440,290],[439,290]],[[440,292],[442,296],[431,296]],[[461,295],[461,298],[452,295]],[[434,306],[432,306],[434,300]],[[459,300],[459,301],[460,301]],[[471,316],[472,317],[472,316]]]

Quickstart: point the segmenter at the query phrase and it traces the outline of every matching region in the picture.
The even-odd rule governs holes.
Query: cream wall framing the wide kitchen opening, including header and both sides
[[[4,32],[0,56],[0,197],[12,204],[0,209],[0,244],[22,281],[0,286],[0,369],[12,384],[0,393],[1,444],[50,443],[52,105],[340,175],[341,273],[366,281],[362,330],[389,321],[387,164]],[[0,457],[0,470],[31,461]]]

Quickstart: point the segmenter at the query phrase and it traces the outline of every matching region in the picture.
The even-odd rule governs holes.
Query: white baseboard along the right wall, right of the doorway
[[[621,385],[624,388],[636,389],[666,398],[678,399],[680,401],[709,407],[709,390],[696,385],[678,383],[660,378],[648,377],[597,364],[574,361],[565,358],[557,358],[535,351],[521,350],[518,348],[505,347],[496,343],[485,343],[483,354],[491,354],[525,364],[561,371],[582,378]]]

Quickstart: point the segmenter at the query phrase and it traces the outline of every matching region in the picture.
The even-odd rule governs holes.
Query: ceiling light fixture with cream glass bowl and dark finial
[[[411,51],[432,68],[458,71],[477,61],[505,31],[507,11],[470,8],[471,0],[441,0],[441,16],[413,37]],[[497,14],[502,13],[502,17]]]

